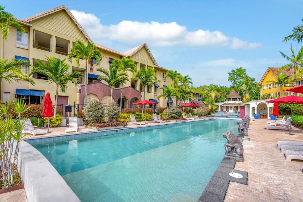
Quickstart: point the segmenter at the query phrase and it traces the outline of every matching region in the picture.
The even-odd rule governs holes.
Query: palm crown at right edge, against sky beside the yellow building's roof
[[[303,76],[303,46],[301,47],[301,49],[299,50],[298,54],[296,55],[294,50],[292,49],[292,46],[290,45],[290,50],[291,50],[291,56],[287,56],[286,54],[284,54],[283,52],[280,51],[281,56],[283,58],[286,58],[286,60],[288,60],[290,63],[286,64],[282,67],[280,67],[277,71],[289,71],[291,69],[294,70],[294,75],[290,77],[290,79],[294,80],[294,83],[296,85],[296,78],[297,77],[301,77]]]

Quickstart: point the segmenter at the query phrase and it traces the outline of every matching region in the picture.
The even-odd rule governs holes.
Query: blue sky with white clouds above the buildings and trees
[[[20,19],[66,5],[94,42],[119,52],[145,42],[160,67],[189,75],[194,86],[230,86],[228,72],[238,67],[259,82],[267,67],[287,64],[279,51],[289,55],[291,42],[283,38],[303,18],[301,1],[291,0],[3,3]]]

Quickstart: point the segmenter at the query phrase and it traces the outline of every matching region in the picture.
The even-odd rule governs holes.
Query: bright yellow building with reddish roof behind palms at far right
[[[293,94],[292,92],[288,92],[288,91],[284,91],[284,90],[293,88],[294,83],[284,84],[283,86],[281,86],[278,83],[269,82],[269,81],[276,81],[277,76],[279,76],[281,73],[285,73],[286,76],[294,75],[293,69],[291,69],[289,71],[284,70],[284,71],[277,72],[278,69],[279,69],[278,67],[268,67],[267,68],[266,72],[264,73],[263,77],[261,78],[261,80],[259,82],[260,83],[259,87],[261,88],[260,89],[261,97],[267,93],[271,93],[272,97],[284,97],[284,96],[290,96]],[[301,78],[301,80],[303,80],[303,78]],[[299,80],[299,81],[297,81],[297,84],[302,85],[303,81],[301,84],[301,81]],[[298,85],[296,85],[296,86],[298,86]]]

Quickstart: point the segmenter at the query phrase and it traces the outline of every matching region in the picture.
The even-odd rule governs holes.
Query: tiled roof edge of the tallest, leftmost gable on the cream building
[[[36,20],[38,18],[41,18],[45,15],[49,15],[49,14],[52,14],[52,13],[55,13],[57,11],[61,11],[61,10],[64,10],[67,15],[69,15],[69,17],[72,19],[72,21],[74,21],[74,23],[76,24],[76,26],[80,29],[80,31],[84,34],[84,36],[87,38],[87,40],[90,42],[90,43],[93,43],[92,39],[88,36],[88,34],[84,31],[84,29],[82,28],[82,26],[78,23],[78,21],[76,20],[76,18],[72,15],[71,11],[68,10],[68,8],[65,6],[65,5],[62,5],[62,6],[59,6],[57,8],[52,8],[48,11],[44,11],[42,13],[38,13],[36,15],[32,15],[28,18],[24,18],[22,21],[25,22],[25,23],[28,23],[30,21],[33,21],[33,20]]]

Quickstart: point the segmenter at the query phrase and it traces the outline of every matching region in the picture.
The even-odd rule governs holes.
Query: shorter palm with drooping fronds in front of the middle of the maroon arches
[[[98,76],[97,79],[104,80],[107,85],[111,88],[111,102],[113,98],[114,86],[125,81],[130,81],[129,76],[126,72],[121,71],[118,67],[111,65],[109,71],[103,67],[96,69],[98,72],[102,72],[105,76]],[[122,101],[121,101],[122,102]]]

